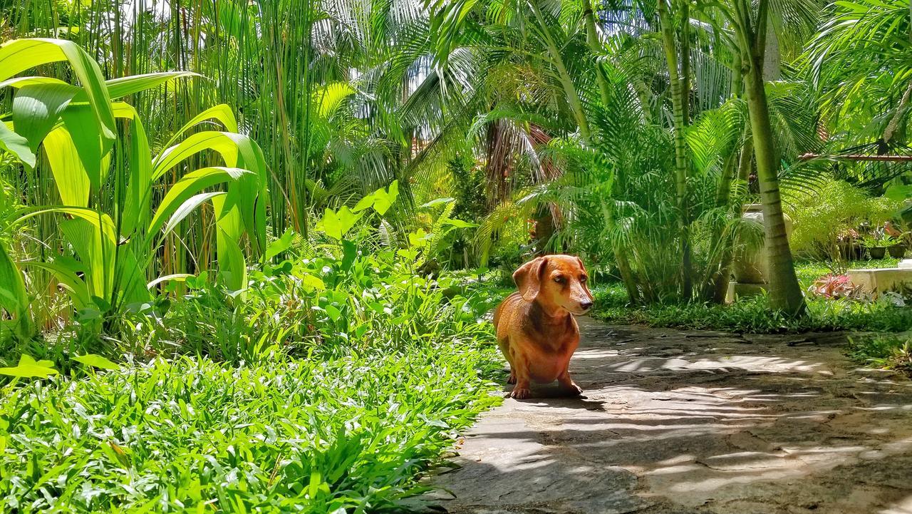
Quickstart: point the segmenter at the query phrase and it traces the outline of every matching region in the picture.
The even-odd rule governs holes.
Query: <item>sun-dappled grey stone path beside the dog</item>
[[[844,335],[580,321],[586,397],[482,415],[431,509],[912,514],[912,383],[856,369]]]

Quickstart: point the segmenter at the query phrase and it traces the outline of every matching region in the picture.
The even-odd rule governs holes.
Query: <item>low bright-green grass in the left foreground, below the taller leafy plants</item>
[[[473,341],[378,344],[327,362],[181,358],[6,387],[0,510],[392,508],[497,401],[483,378],[495,359]]]

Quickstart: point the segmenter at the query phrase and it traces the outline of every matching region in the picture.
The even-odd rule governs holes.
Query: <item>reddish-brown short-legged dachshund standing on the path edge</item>
[[[560,383],[567,393],[583,390],[570,378],[570,357],[579,345],[573,315],[592,309],[586,267],[579,257],[538,257],[513,273],[518,292],[494,309],[494,328],[510,362],[513,398],[528,398],[529,384]]]

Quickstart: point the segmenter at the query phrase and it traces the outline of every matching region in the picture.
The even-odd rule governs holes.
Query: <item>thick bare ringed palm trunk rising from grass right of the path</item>
[[[805,310],[804,296],[795,275],[792,250],[785,233],[785,216],[782,214],[779,174],[772,142],[770,108],[763,80],[763,51],[769,0],[760,0],[756,31],[751,27],[749,2],[738,1],[741,10],[740,39],[744,46],[741,48],[741,56],[742,60],[747,58],[749,62],[744,86],[753,132],[753,152],[757,162],[757,178],[760,182],[760,199],[763,205],[763,232],[767,249],[767,267],[770,271],[770,299],[773,309],[798,315],[803,314]]]

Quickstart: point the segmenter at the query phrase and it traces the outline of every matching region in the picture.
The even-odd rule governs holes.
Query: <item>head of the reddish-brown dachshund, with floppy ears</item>
[[[549,310],[565,309],[577,316],[592,309],[587,279],[583,261],[574,256],[538,257],[513,272],[524,300],[537,300]]]

